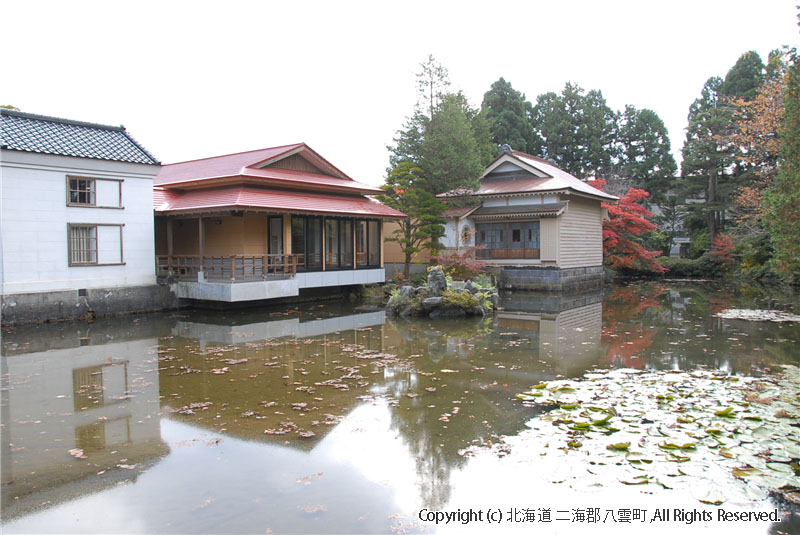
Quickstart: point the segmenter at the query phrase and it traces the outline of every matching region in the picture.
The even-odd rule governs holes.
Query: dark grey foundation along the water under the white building
[[[178,308],[169,286],[95,288],[2,296],[3,325],[74,320]]]

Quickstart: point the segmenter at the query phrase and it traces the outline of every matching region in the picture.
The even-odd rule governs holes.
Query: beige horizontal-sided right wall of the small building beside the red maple
[[[558,266],[562,269],[603,264],[603,221],[600,201],[566,197],[559,228]]]

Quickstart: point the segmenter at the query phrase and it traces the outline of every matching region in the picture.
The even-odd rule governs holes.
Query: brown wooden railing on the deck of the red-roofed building
[[[207,280],[252,281],[280,278],[297,273],[297,257],[290,254],[156,257],[158,275],[196,281],[197,274],[201,271]]]

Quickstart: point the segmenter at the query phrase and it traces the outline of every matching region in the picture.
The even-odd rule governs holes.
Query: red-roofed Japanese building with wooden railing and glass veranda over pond
[[[165,165],[154,186],[158,274],[184,299],[383,282],[383,222],[405,217],[305,143]]]

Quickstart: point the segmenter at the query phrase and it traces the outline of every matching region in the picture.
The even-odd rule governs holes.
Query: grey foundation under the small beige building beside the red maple
[[[587,292],[603,286],[603,266],[559,269],[538,266],[493,266],[488,270],[502,290]]]

